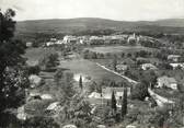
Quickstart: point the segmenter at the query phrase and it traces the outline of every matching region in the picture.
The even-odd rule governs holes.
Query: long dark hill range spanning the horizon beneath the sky
[[[54,19],[22,21],[16,24],[16,34],[72,33],[87,30],[151,31],[184,34],[184,19],[169,19],[154,22],[124,22],[95,18]]]

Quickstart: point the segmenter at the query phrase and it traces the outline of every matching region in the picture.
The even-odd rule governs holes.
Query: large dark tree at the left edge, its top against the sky
[[[14,15],[11,9],[4,13],[0,11],[0,120],[5,108],[18,107],[24,102],[24,89],[28,86],[25,59],[22,56],[25,45],[13,39]]]

